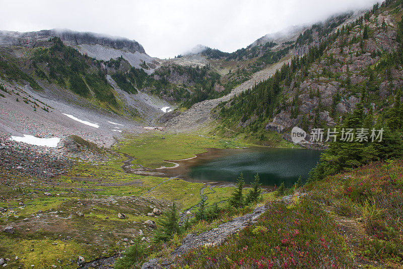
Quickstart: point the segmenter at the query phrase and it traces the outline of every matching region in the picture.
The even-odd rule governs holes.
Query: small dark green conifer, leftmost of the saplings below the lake
[[[158,221],[159,228],[155,232],[154,241],[166,241],[174,233],[181,231],[179,226],[179,215],[176,208],[175,201],[172,203],[172,207],[163,215]]]

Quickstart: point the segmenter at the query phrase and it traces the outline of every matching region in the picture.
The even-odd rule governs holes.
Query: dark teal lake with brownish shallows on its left
[[[218,156],[199,158],[187,169],[185,178],[197,181],[235,182],[243,173],[245,183],[259,173],[265,186],[279,186],[283,181],[291,187],[301,176],[305,181],[315,167],[321,151],[308,149],[247,148],[221,150]],[[197,158],[195,158],[196,160]]]

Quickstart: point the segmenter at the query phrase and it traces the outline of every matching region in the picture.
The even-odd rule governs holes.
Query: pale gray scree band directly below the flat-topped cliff
[[[154,60],[153,57],[139,51],[135,51],[135,53],[132,53],[128,50],[110,48],[99,44],[81,44],[76,46],[76,48],[80,51],[81,54],[87,54],[88,56],[96,58],[98,60],[108,61],[111,58],[116,59],[120,56],[123,56],[123,58],[125,58],[130,63],[130,65],[135,68],[141,68],[140,64],[142,64],[143,61],[146,61],[146,63],[150,63]],[[154,72],[154,69],[144,71],[147,74],[151,74]]]

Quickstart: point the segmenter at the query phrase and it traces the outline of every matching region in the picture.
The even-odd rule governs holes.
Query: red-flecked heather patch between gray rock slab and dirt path
[[[319,205],[303,199],[269,205],[258,219],[221,246],[199,247],[179,261],[190,268],[340,268],[351,265],[338,226]]]

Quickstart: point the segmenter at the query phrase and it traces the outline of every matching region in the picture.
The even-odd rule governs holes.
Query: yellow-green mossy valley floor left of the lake
[[[156,131],[127,137],[115,150],[138,158],[137,164],[159,167],[168,165],[164,160],[186,159],[205,152],[205,148],[239,146],[246,144],[201,134]],[[203,183],[128,174],[121,168],[126,158],[117,155],[103,163],[77,161],[63,175],[46,179],[0,169],[4,186],[0,207],[8,210],[0,213],[0,225],[13,226],[16,231],[13,235],[0,233],[0,257],[11,259],[9,268],[32,264],[36,268],[51,268],[52,264],[75,268],[78,255],[89,261],[113,254],[135,241],[140,230],[152,238],[153,230],[143,224],[155,218],[147,216],[152,208],[164,212],[175,200],[185,211],[199,202]],[[205,188],[204,194],[215,204],[228,199],[231,190]],[[126,218],[119,219],[118,213]],[[15,260],[15,256],[19,258]]]

